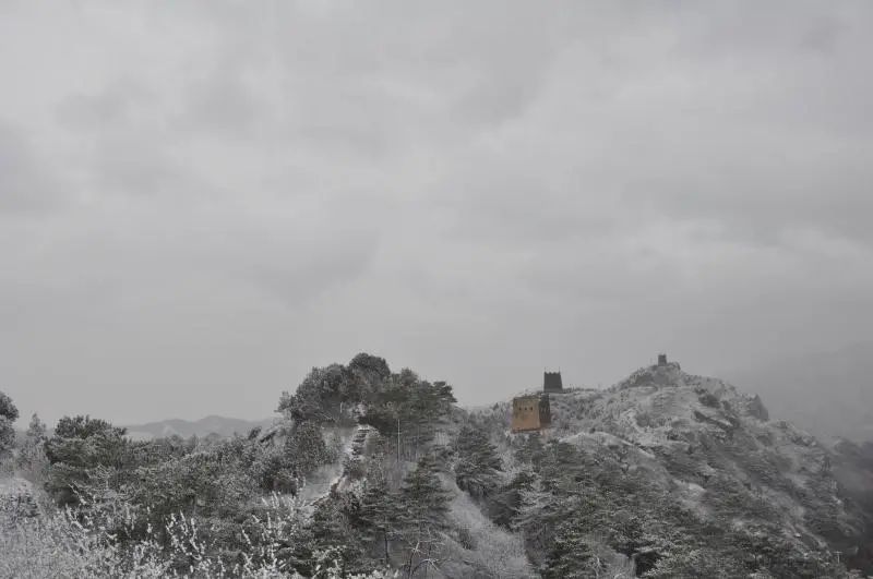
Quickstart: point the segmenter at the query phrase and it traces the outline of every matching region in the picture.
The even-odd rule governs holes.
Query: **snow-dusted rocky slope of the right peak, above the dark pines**
[[[572,445],[595,481],[578,492],[595,484],[607,487],[597,492],[621,485],[627,493],[630,485],[631,493],[648,493],[651,502],[672,505],[690,521],[653,533],[650,544],[633,547],[634,556],[654,552],[657,559],[675,548],[669,541],[657,546],[657,534],[681,536],[690,529],[710,528],[719,536],[713,539],[709,557],[721,556],[718,544],[730,535],[739,544],[778,544],[780,557],[797,562],[792,572],[801,572],[804,560],[821,563],[822,572],[838,557],[870,568],[869,517],[842,492],[833,463],[839,461],[841,480],[854,467],[809,433],[772,421],[757,396],[669,363],[643,367],[605,390],[552,394],[550,401],[552,426],[543,431],[543,441]],[[511,402],[502,402],[479,415],[502,429],[510,447],[517,447],[514,438],[519,435],[507,431],[511,410]],[[615,478],[615,472],[623,474]],[[637,488],[639,481],[645,484]],[[602,529],[585,532],[614,532],[608,512],[602,520]],[[757,568],[755,562],[746,563]],[[773,571],[763,564],[760,568]]]

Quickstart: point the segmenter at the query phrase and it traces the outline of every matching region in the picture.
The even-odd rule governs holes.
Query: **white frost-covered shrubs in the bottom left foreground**
[[[273,495],[263,502],[263,517],[252,517],[242,532],[246,547],[228,560],[210,539],[210,522],[171,515],[163,534],[148,527],[143,538],[123,541],[137,512],[127,504],[92,511],[64,508],[23,518],[0,533],[0,577],[58,578],[279,578],[300,577],[288,556],[303,524],[297,499]],[[315,554],[316,577],[339,577],[324,554]],[[388,577],[385,572],[357,576]]]

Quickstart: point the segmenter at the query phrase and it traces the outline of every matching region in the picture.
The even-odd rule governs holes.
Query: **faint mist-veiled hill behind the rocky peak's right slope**
[[[774,418],[825,439],[873,441],[873,342],[722,372]]]

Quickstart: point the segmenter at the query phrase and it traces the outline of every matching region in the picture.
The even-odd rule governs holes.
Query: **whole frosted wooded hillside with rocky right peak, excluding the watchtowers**
[[[7,406],[12,408],[11,401]],[[869,570],[873,459],[678,364],[511,402],[376,357],[313,369],[229,439],[131,441],[34,420],[7,449],[2,577],[850,577]],[[9,502],[7,502],[9,503]],[[11,512],[11,515],[10,515]]]

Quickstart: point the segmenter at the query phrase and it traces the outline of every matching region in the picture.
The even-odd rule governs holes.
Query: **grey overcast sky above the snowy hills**
[[[0,0],[0,390],[479,405],[873,327],[873,4]]]

